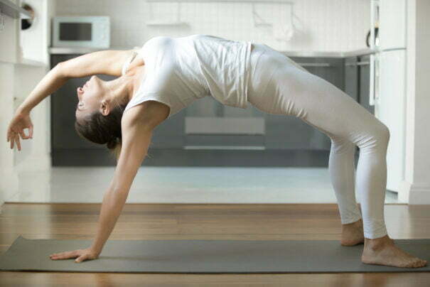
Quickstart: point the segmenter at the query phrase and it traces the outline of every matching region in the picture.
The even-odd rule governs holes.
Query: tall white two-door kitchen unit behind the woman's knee
[[[379,12],[379,13],[378,13]],[[372,0],[371,27],[379,23],[379,45],[371,30],[370,105],[390,132],[387,190],[399,192],[404,180],[406,111],[406,0]]]

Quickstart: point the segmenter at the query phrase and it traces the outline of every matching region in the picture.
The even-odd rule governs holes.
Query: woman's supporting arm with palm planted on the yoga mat
[[[119,156],[112,182],[103,197],[100,210],[97,235],[88,249],[66,251],[55,254],[51,259],[69,259],[77,261],[95,259],[102,252],[104,243],[114,228],[115,223],[127,200],[131,183],[146,156],[152,131],[168,117],[169,108],[154,101],[144,102],[130,109],[122,119],[122,150]]]

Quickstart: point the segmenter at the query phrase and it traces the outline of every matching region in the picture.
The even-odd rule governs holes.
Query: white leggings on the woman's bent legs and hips
[[[384,237],[387,126],[348,94],[285,55],[264,44],[252,46],[248,102],[269,114],[298,117],[329,136],[328,170],[342,224],[362,217],[366,238]],[[355,146],[360,148],[356,186]],[[361,214],[355,188],[360,194]]]

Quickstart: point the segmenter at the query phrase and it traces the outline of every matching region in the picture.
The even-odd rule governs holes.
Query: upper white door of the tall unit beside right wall
[[[380,49],[406,48],[406,0],[379,2]]]

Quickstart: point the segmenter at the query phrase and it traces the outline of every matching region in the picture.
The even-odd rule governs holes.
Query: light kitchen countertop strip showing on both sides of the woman
[[[110,48],[82,48],[82,47],[50,47],[48,51],[50,54],[86,54],[98,50],[129,50],[130,47],[110,47]],[[375,53],[376,50],[370,48],[362,48],[359,50],[350,51],[293,51],[293,50],[279,50],[288,57],[308,57],[308,58],[348,58],[362,55],[369,55]]]

